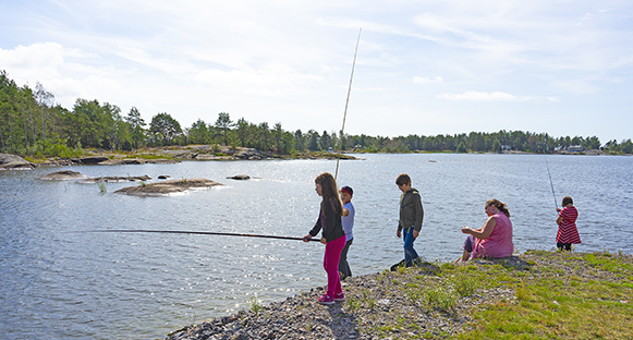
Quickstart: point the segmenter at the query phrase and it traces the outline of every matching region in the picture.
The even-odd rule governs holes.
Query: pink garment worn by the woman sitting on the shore
[[[508,257],[514,251],[512,243],[512,222],[503,212],[495,214],[492,217],[497,220],[497,226],[488,239],[480,240],[475,238],[473,246],[473,258],[476,257]]]

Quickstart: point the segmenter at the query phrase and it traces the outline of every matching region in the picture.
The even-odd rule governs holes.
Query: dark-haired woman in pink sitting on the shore
[[[462,228],[468,236],[464,242],[462,262],[477,257],[508,257],[514,251],[512,243],[512,222],[510,211],[497,199],[486,202],[486,214],[489,216],[479,229]]]

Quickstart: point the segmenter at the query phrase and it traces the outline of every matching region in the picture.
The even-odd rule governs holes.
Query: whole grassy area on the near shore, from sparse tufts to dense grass
[[[632,339],[633,335],[631,255],[528,251],[509,259],[438,264],[433,272],[422,267],[386,270],[379,281],[378,289],[363,288],[346,301],[352,314],[389,314],[379,323],[365,317],[358,324],[362,333],[378,338]],[[395,311],[393,295],[404,296],[399,304],[407,307]],[[442,321],[429,324],[428,318]]]

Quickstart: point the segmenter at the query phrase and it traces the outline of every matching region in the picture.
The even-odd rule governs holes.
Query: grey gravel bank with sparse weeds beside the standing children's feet
[[[622,257],[633,263],[633,256]],[[582,259],[577,262],[584,264]],[[489,267],[485,265],[525,270],[526,280],[543,276],[621,279],[586,264],[570,265],[573,263],[573,253],[556,252],[526,252],[509,258],[468,262],[480,270]],[[503,301],[512,303],[515,299],[515,292],[502,282],[497,287],[488,284],[488,289],[479,287],[467,294],[457,294],[455,278],[437,276],[438,272],[438,266],[426,263],[418,268],[352,277],[343,282],[344,302],[320,305],[317,299],[325,292],[325,287],[315,288],[281,302],[252,304],[249,309],[234,315],[186,326],[169,333],[167,340],[441,339],[467,331],[473,307]],[[452,298],[442,300],[449,291]]]

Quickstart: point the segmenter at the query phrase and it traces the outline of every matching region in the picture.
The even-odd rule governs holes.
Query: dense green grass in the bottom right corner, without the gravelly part
[[[497,276],[496,280],[515,290],[515,301],[482,306],[473,314],[474,330],[457,339],[630,339],[631,256],[537,255],[551,257],[552,265],[535,268],[534,275],[521,280],[513,277],[514,271]]]

